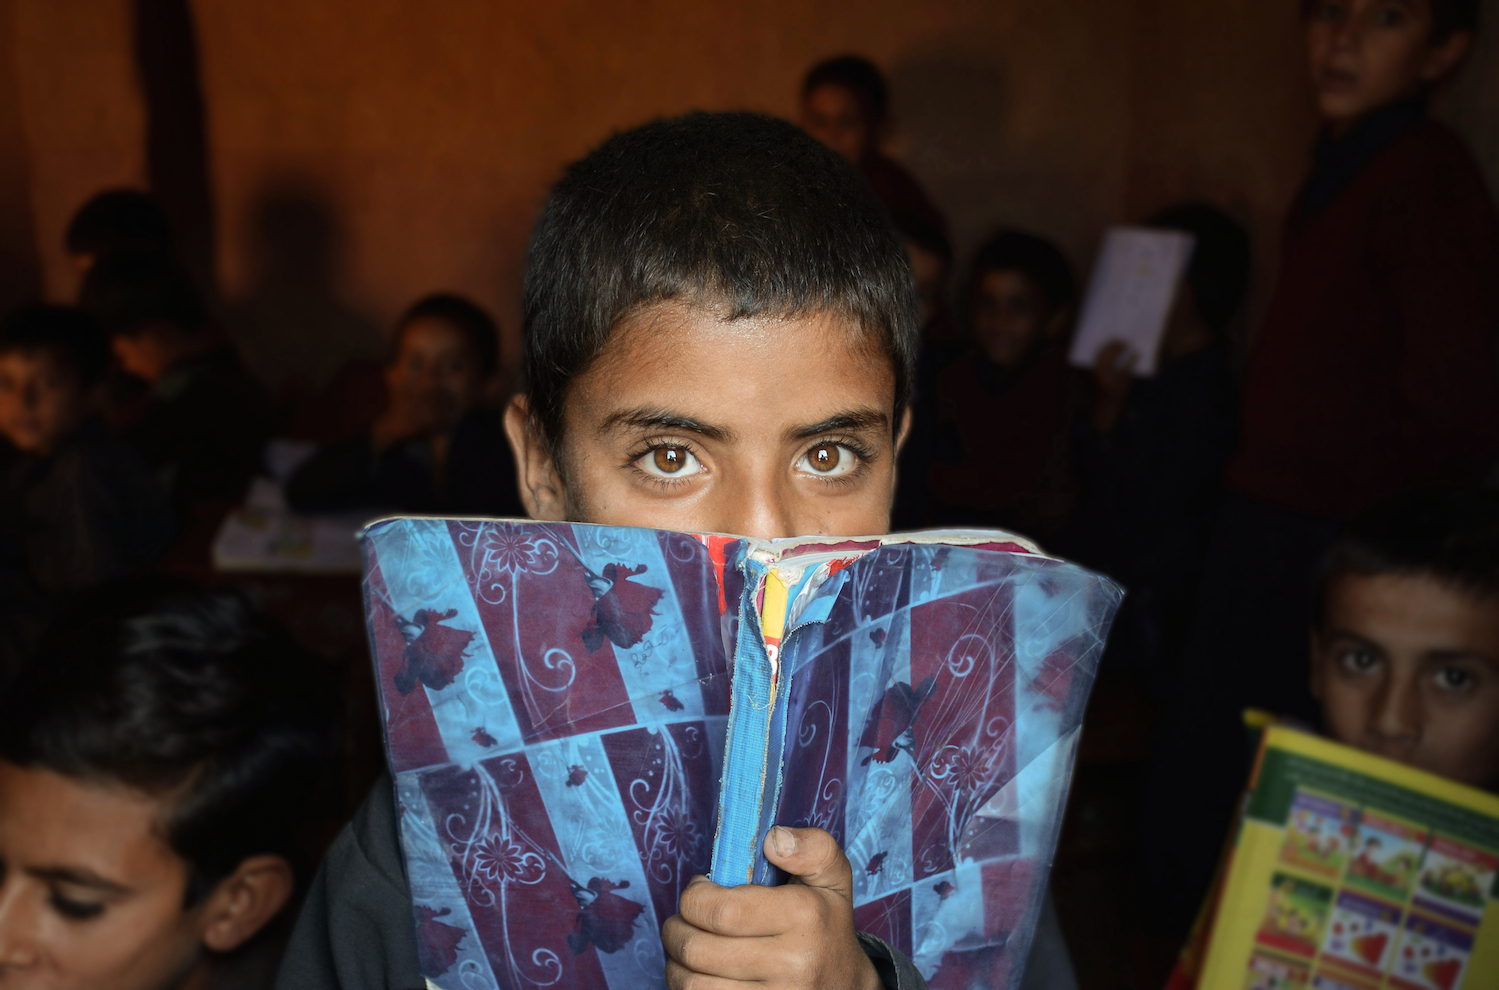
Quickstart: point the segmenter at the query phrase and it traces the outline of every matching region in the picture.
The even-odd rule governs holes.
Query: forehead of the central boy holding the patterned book
[[[565,418],[568,429],[684,418],[726,438],[791,424],[805,435],[830,424],[889,438],[893,416],[892,358],[848,320],[726,320],[715,308],[667,302],[621,321],[573,381]]]

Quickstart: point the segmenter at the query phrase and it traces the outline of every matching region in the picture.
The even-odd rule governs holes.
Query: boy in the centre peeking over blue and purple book
[[[889,528],[917,297],[859,176],[784,122],[694,114],[571,165],[526,266],[528,392],[507,426],[534,519],[757,537]],[[663,928],[670,987],[920,987],[854,932],[827,832],[776,828],[785,886],[691,882]],[[582,922],[580,922],[582,924]],[[382,780],[333,844],[283,990],[412,990],[418,954]]]

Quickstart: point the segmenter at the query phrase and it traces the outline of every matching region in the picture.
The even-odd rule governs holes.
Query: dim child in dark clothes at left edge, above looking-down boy
[[[78,309],[28,306],[0,324],[0,434],[16,452],[0,486],[7,652],[48,602],[150,567],[171,542],[165,489],[99,418],[108,369],[109,340]]]

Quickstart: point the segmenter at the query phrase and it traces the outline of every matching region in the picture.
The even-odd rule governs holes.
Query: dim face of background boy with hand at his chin
[[[385,386],[391,402],[406,404],[424,429],[445,432],[478,404],[484,374],[462,330],[426,316],[402,327]]]

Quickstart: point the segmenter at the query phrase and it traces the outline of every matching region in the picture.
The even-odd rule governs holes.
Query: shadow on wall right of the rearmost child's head
[[[995,228],[1019,226],[1055,240],[1084,272],[1112,218],[1097,208],[1076,158],[1063,159],[1067,148],[1010,140],[1004,63],[938,48],[889,75],[902,158],[947,212],[959,264]]]

